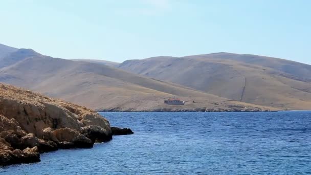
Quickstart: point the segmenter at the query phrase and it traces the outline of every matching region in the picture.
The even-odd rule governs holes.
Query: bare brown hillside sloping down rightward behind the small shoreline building
[[[0,81],[105,111],[261,111],[276,108],[230,101],[103,64],[27,53],[0,69]],[[20,53],[20,51],[17,51]],[[12,53],[14,60],[16,53]],[[29,56],[31,55],[31,56]],[[7,57],[7,58],[10,58]],[[186,105],[165,105],[179,96]],[[195,103],[192,101],[195,100]]]

